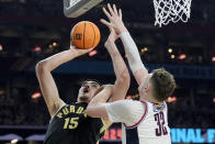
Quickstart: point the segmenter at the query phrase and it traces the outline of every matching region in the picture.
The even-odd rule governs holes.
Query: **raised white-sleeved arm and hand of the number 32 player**
[[[114,31],[121,36],[121,40],[123,42],[126,56],[128,58],[129,67],[133,71],[133,75],[138,84],[140,84],[148,75],[148,70],[144,66],[138,48],[129,35],[127,29],[125,27],[123,20],[122,20],[122,11],[120,10],[120,14],[116,13],[115,4],[113,8],[108,4],[109,11],[108,12],[104,8],[103,11],[105,15],[109,18],[110,22],[106,22],[105,20],[102,20],[103,23],[114,29]]]

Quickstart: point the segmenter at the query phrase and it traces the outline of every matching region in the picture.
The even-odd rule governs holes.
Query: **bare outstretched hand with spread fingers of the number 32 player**
[[[103,23],[104,25],[106,25],[109,29],[114,29],[114,31],[116,32],[116,34],[121,34],[122,32],[127,31],[126,27],[124,26],[123,20],[122,20],[122,10],[117,10],[115,4],[113,4],[113,8],[111,7],[111,4],[108,4],[109,11],[106,11],[105,8],[103,8],[103,12],[104,14],[109,18],[108,22],[104,19],[101,19],[101,23]]]

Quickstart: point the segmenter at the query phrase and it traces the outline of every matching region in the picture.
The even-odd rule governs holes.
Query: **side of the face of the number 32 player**
[[[152,74],[149,74],[145,80],[143,80],[143,82],[139,85],[138,87],[138,91],[139,91],[139,95],[142,97],[146,97],[147,96],[147,92],[149,91],[150,89],[150,77],[152,76]]]

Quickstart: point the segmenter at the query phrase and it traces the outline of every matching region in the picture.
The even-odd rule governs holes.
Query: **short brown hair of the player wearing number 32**
[[[154,98],[159,102],[170,97],[176,89],[174,77],[165,68],[154,69],[150,80],[152,82]]]

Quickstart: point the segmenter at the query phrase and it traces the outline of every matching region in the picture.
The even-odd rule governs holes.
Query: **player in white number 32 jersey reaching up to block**
[[[122,12],[108,4],[103,11],[110,22],[103,24],[120,35],[129,67],[139,87],[139,101],[120,100],[105,103],[109,93],[95,97],[88,106],[87,113],[91,117],[103,117],[111,122],[122,122],[123,144],[170,144],[167,104],[165,100],[172,95],[176,82],[173,76],[163,68],[155,69],[151,74],[145,68],[137,46],[122,21]]]

